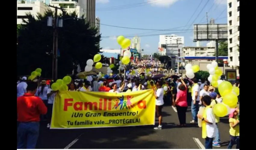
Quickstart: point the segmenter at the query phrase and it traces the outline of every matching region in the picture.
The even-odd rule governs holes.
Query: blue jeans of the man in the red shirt
[[[20,122],[17,149],[35,149],[38,136],[39,122]]]

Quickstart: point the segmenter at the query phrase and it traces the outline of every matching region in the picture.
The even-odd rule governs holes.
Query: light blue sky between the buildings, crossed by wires
[[[201,1],[202,3],[200,4]],[[129,28],[160,30],[176,28],[175,30],[179,30],[149,31],[101,25],[100,32],[102,41],[100,46],[103,49],[120,49],[116,41],[117,36],[124,35],[125,37],[131,37],[137,35],[141,38],[141,48],[144,49],[144,53],[150,54],[158,51],[160,34],[165,35],[165,33],[173,32],[183,32],[174,34],[184,36],[185,46],[195,46],[193,42],[193,31],[186,30],[192,29],[194,20],[195,22],[193,24],[206,23],[206,12],[208,12],[208,20],[218,18],[215,20],[215,23],[227,23],[226,0],[209,0],[206,4],[207,1],[208,0],[96,0],[96,16],[100,18],[101,24]],[[199,4],[200,6],[198,7]],[[204,7],[205,4],[206,6]],[[198,9],[195,12],[197,7]],[[203,7],[204,9],[202,10]],[[194,16],[190,19],[194,12]]]

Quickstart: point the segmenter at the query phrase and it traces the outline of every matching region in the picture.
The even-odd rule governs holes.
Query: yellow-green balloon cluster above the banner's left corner
[[[58,79],[55,83],[51,85],[51,88],[53,91],[67,91],[68,87],[67,85],[71,82],[70,76],[64,76],[63,79]]]

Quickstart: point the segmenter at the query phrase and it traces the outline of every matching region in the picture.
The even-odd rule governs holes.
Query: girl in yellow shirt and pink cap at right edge
[[[240,137],[239,137],[239,119],[236,109],[231,109],[229,113],[229,134],[231,140],[228,145],[228,149],[232,149],[232,146],[236,143],[236,149],[240,149]]]

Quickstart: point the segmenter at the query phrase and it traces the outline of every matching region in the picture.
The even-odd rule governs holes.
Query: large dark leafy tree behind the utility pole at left
[[[23,23],[17,37],[17,74],[28,75],[37,67],[42,68],[42,76],[52,76],[53,27],[47,26],[48,16],[53,17],[53,11],[47,10],[43,15],[37,14],[35,19],[30,13]],[[81,69],[88,59],[99,52],[101,36],[96,36],[97,29],[89,29],[89,24],[83,19],[68,19],[77,17],[76,12],[63,13],[63,27],[58,28],[58,77],[70,74],[73,64],[80,64]],[[65,20],[66,19],[66,20]]]

